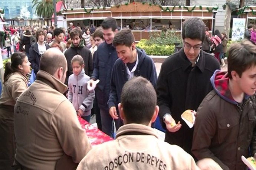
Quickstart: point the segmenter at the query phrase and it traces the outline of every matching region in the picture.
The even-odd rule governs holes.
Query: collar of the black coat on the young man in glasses
[[[184,52],[184,48],[181,48],[181,50],[178,52],[178,56],[179,56],[179,58],[182,58],[181,67],[182,67],[183,71],[185,71],[189,66],[192,65],[192,63],[189,61],[189,59],[187,58],[187,56]],[[204,52],[203,52],[203,50],[200,50],[200,58],[199,58],[197,64],[195,65],[195,67],[198,67],[201,72],[204,72]]]

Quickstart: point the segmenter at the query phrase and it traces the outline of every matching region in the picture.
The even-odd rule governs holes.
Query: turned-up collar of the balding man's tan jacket
[[[37,72],[37,78],[36,81],[42,81],[45,84],[49,85],[53,89],[57,90],[60,93],[64,93],[65,91],[68,90],[68,86],[66,86],[64,83],[56,79],[53,75],[50,75],[46,71],[39,70]]]

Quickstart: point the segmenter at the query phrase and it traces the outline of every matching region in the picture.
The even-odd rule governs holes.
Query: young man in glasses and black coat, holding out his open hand
[[[165,141],[191,153],[193,128],[181,119],[187,110],[197,110],[212,89],[210,77],[220,64],[214,56],[201,50],[205,25],[199,18],[183,23],[183,48],[170,55],[161,66],[157,81],[157,105],[165,132]]]

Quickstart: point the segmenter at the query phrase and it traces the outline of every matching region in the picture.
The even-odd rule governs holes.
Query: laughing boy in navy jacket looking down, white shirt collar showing
[[[112,69],[108,107],[109,114],[115,120],[115,127],[118,130],[123,122],[116,108],[120,102],[125,82],[134,76],[142,76],[148,79],[155,88],[157,72],[153,60],[144,50],[135,47],[135,38],[130,29],[123,29],[116,33],[113,46],[116,48],[119,59],[116,60]]]

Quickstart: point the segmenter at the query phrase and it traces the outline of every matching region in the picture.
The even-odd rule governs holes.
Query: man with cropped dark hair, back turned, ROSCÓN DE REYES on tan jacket
[[[158,115],[156,103],[155,89],[147,79],[137,77],[126,82],[118,105],[124,126],[118,129],[116,140],[93,147],[77,170],[199,170],[188,153],[159,140],[150,127]],[[207,163],[218,167],[212,160]],[[211,170],[217,170],[213,166]]]

